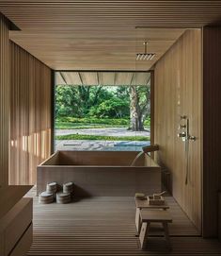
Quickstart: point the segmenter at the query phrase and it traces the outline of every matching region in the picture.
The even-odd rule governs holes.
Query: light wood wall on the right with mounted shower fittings
[[[154,143],[158,162],[171,172],[172,192],[201,230],[201,30],[187,30],[155,67]],[[181,115],[190,122],[189,149],[178,138]],[[185,184],[186,172],[188,183]]]

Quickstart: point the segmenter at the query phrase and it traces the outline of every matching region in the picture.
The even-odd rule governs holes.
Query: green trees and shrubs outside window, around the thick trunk
[[[147,108],[146,86],[137,87],[140,110]],[[146,105],[145,105],[146,104]],[[56,128],[130,127],[129,86],[55,86]],[[150,117],[144,125],[150,127]]]

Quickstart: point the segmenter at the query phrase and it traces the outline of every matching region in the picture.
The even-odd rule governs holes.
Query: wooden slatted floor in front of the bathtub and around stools
[[[174,219],[169,227],[171,252],[161,237],[151,237],[149,248],[140,249],[133,197],[93,197],[67,205],[40,205],[34,196],[34,243],[27,255],[221,255],[221,244],[197,236],[175,200],[171,196],[166,199]]]

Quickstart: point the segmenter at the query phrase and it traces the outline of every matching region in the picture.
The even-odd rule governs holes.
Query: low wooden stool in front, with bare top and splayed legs
[[[142,221],[142,227],[139,234],[141,248],[144,248],[147,243],[151,222],[162,223],[164,233],[165,233],[166,243],[170,247],[169,233],[168,233],[168,223],[172,222],[170,213],[168,213],[167,211],[161,211],[161,210],[149,211],[149,210],[143,209],[140,211],[140,216]]]

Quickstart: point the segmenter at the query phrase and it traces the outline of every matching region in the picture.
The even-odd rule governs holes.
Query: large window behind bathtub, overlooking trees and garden
[[[150,145],[150,73],[56,72],[55,150]]]

